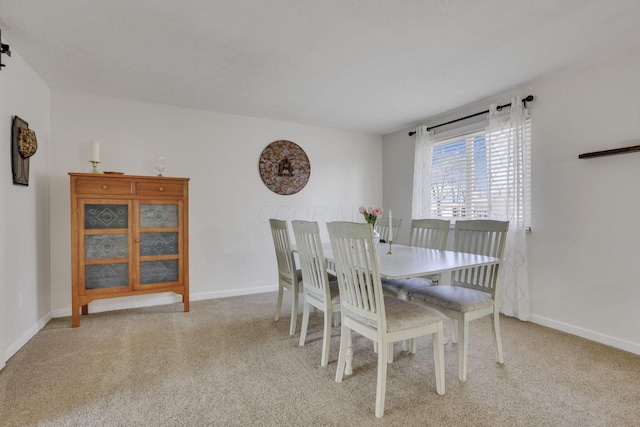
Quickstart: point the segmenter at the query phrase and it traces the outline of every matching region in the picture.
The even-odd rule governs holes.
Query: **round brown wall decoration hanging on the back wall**
[[[281,139],[262,151],[259,170],[262,182],[269,190],[286,196],[307,185],[311,163],[298,144]]]

